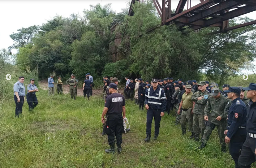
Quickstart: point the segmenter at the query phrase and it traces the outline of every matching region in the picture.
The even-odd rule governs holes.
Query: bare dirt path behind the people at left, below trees
[[[39,84],[40,88],[42,88],[43,90],[48,90],[47,81],[45,81],[45,80],[39,81],[38,84]],[[54,87],[57,88],[56,84],[54,84]],[[62,89],[63,89],[64,94],[69,93],[68,85],[63,85]],[[77,95],[79,95],[79,96],[84,95],[83,88],[77,88]],[[101,89],[93,89],[93,95],[102,95],[102,90]]]

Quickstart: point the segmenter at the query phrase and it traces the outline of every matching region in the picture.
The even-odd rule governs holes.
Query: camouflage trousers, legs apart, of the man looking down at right
[[[203,136],[203,142],[207,142],[211,136],[211,132],[214,130],[214,128],[217,126],[218,134],[220,138],[220,144],[222,145],[225,142],[225,134],[224,131],[226,130],[227,126],[225,125],[215,125],[213,128],[210,126],[206,126]]]

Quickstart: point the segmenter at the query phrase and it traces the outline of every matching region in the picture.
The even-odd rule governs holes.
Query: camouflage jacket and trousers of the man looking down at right
[[[214,92],[215,90],[212,90]],[[227,128],[227,120],[224,117],[224,109],[228,103],[229,99],[224,95],[220,94],[220,98],[214,99],[214,96],[210,96],[208,102],[205,106],[205,116],[208,116],[208,121],[206,124],[206,129],[204,131],[203,142],[207,143],[210,138],[212,130],[217,126],[218,134],[220,138],[220,144],[223,146],[225,143],[224,131]],[[221,116],[221,120],[218,121],[216,118]]]

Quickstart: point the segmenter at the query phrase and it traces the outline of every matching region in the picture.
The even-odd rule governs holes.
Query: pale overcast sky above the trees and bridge
[[[160,0],[161,1],[161,0]],[[9,37],[22,27],[42,25],[56,14],[69,17],[72,13],[82,13],[89,9],[90,4],[112,4],[115,12],[121,12],[131,0],[0,0],[0,49],[8,48],[13,44]],[[172,0],[172,8],[176,9],[179,0]],[[192,6],[200,3],[192,0]],[[186,9],[185,5],[185,9]],[[127,11],[128,13],[128,11]],[[256,20],[256,11],[247,14]]]

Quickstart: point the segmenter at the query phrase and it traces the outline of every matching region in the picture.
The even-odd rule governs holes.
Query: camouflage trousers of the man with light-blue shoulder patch
[[[201,114],[195,114],[193,118],[193,131],[196,135],[196,137],[199,137],[201,134],[201,138],[204,136],[204,130],[205,130],[205,119],[204,115]]]

